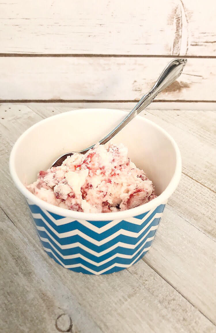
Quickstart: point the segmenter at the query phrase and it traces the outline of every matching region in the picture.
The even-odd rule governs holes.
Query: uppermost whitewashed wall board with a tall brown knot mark
[[[213,0],[5,1],[1,52],[212,56],[213,8]]]

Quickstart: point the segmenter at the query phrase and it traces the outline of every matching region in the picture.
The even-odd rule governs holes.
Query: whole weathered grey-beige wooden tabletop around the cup
[[[31,125],[71,109],[129,111],[133,105],[0,106],[2,332],[66,332],[70,319],[71,332],[216,331],[214,105],[204,104],[202,111],[194,104],[176,104],[173,110],[170,103],[154,103],[144,112],[176,140],[182,176],[151,250],[121,272],[83,275],[55,263],[42,249],[25,199],[11,180],[10,150]]]

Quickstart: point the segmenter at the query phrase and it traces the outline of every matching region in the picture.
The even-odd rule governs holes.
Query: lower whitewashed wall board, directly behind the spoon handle
[[[140,100],[167,58],[0,58],[0,100]],[[160,100],[215,100],[216,59],[188,59]]]

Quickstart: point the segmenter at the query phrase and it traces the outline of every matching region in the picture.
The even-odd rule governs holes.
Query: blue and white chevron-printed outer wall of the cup
[[[125,220],[75,220],[28,202],[41,243],[58,264],[86,274],[130,267],[150,249],[165,204]]]

